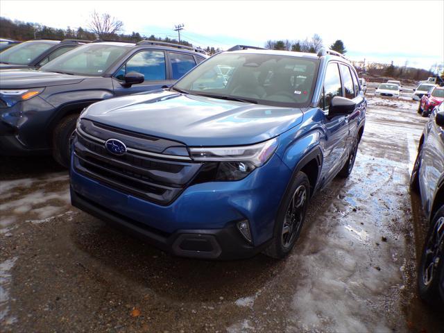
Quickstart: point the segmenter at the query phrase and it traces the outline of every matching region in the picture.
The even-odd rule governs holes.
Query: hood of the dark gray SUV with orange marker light
[[[0,71],[1,89],[21,89],[50,87],[53,85],[69,85],[79,83],[85,76],[37,71],[35,69],[12,69]]]

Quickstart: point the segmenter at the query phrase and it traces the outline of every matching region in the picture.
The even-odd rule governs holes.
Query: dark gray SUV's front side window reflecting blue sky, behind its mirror
[[[163,51],[142,51],[136,53],[125,65],[114,74],[118,80],[123,80],[130,71],[143,74],[145,80],[166,80],[165,54]]]

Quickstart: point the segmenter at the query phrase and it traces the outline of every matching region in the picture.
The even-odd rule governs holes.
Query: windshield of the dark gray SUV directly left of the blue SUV
[[[42,66],[42,71],[101,76],[128,49],[125,46],[88,44],[78,46]]]

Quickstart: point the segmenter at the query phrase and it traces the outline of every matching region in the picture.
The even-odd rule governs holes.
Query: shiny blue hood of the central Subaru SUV
[[[94,103],[81,117],[188,146],[235,146],[280,135],[301,123],[303,113],[164,91]]]

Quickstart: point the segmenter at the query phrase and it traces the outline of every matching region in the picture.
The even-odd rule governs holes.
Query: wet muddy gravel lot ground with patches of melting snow
[[[416,296],[426,119],[372,90],[352,176],[314,197],[280,262],[172,257],[71,207],[49,157],[3,157],[0,332],[443,332]]]

